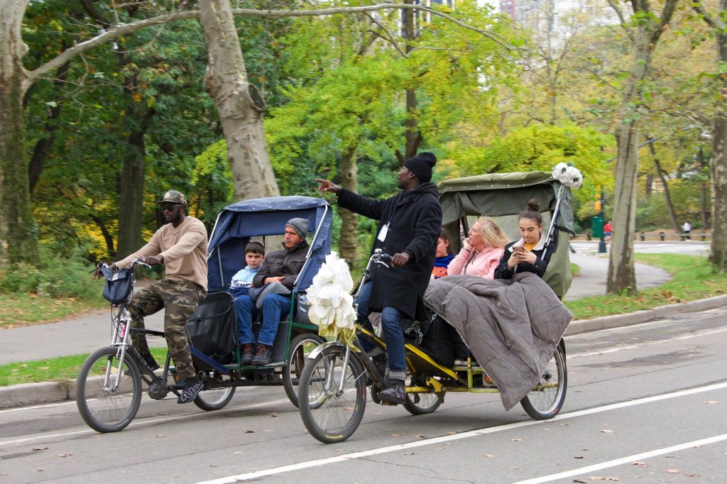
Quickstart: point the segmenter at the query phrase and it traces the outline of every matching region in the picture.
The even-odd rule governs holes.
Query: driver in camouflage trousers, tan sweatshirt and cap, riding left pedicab
[[[177,190],[164,193],[157,202],[166,225],[150,241],[126,259],[114,262],[112,270],[126,267],[141,257],[148,265],[164,264],[164,279],[134,292],[129,303],[132,327],[144,328],[144,317],[164,307],[164,335],[172,353],[177,375],[185,386],[177,403],[194,400],[203,384],[192,363],[187,336],[187,320],[207,294],[207,230],[187,215],[187,199]],[[132,344],[154,370],[159,368],[144,334],[134,334]]]

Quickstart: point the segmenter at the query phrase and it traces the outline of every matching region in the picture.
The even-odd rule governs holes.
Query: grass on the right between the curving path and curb
[[[705,257],[677,254],[634,254],[635,261],[666,270],[672,280],[639,291],[635,297],[610,294],[566,302],[576,319],[648,310],[677,302],[695,301],[727,292],[727,274],[712,272]],[[576,282],[576,281],[574,281]]]

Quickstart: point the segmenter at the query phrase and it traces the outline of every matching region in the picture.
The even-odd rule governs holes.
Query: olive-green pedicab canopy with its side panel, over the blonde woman
[[[459,237],[456,234],[459,234],[459,222],[462,221],[466,232],[467,216],[518,215],[531,198],[536,198],[540,203],[540,210],[543,213],[549,212],[552,217],[555,206],[558,205],[558,213],[555,214],[558,243],[551,244],[555,246],[548,249],[553,255],[543,280],[553,288],[558,297],[565,296],[571,286],[567,234],[574,233],[573,204],[571,189],[554,180],[552,172],[482,174],[444,180],[439,182],[437,188],[442,206],[442,225],[449,230],[457,250]],[[558,203],[558,193],[561,193],[561,203]],[[547,236],[548,227],[545,222],[544,236]]]

